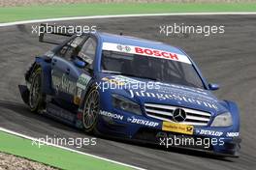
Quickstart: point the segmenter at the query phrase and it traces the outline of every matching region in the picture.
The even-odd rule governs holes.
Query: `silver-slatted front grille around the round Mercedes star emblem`
[[[176,108],[173,105],[145,103],[144,109],[148,117],[156,118],[163,121],[174,122],[173,112]],[[192,126],[207,126],[210,120],[210,113],[199,110],[183,108],[186,112],[186,119],[179,124],[192,125]]]

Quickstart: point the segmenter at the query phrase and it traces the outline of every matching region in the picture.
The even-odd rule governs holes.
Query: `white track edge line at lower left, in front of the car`
[[[77,154],[80,154],[80,155],[92,156],[92,157],[95,157],[95,158],[99,158],[99,159],[101,159],[101,160],[109,161],[109,162],[112,162],[112,163],[115,163],[115,164],[119,164],[119,165],[123,165],[123,166],[126,166],[126,167],[130,167],[130,168],[133,168],[133,169],[145,170],[144,168],[140,168],[140,167],[137,167],[137,166],[129,165],[129,164],[122,163],[122,162],[119,162],[119,161],[115,161],[115,160],[112,160],[112,159],[109,159],[109,158],[105,158],[105,157],[101,157],[101,156],[94,156],[94,155],[91,155],[91,154],[82,153],[82,152],[80,152],[80,151],[72,150],[72,149],[70,149],[70,148],[62,147],[62,146],[55,145],[55,144],[52,144],[52,143],[48,143],[48,142],[45,142],[45,141],[40,141],[40,140],[37,139],[37,138],[30,137],[30,136],[27,136],[27,135],[18,133],[18,132],[16,132],[16,131],[12,131],[12,130],[7,129],[7,128],[1,128],[1,127],[0,127],[0,131],[4,131],[4,132],[10,133],[10,134],[14,134],[14,135],[16,135],[16,136],[19,136],[19,137],[22,137],[22,138],[25,138],[25,139],[28,139],[28,140],[41,142],[41,143],[44,143],[44,144],[46,144],[46,145],[48,145],[48,146],[60,148],[60,149],[67,150],[67,151],[70,151],[70,152],[73,152],[73,153],[77,153]]]

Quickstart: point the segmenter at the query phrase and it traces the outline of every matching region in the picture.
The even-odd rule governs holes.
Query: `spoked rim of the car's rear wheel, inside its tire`
[[[36,74],[32,80],[30,93],[29,93],[29,105],[31,108],[36,108],[40,100],[40,76]]]

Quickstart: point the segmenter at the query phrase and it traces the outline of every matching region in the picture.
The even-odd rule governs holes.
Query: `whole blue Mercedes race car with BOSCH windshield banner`
[[[40,42],[45,41],[40,35]],[[87,133],[239,156],[237,104],[217,99],[180,48],[102,32],[58,34],[19,85],[32,112]]]

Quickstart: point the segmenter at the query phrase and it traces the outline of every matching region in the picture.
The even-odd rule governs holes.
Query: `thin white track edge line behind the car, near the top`
[[[167,15],[222,15],[222,14],[256,14],[252,13],[171,13],[171,14],[113,14],[113,15],[91,15],[91,16],[74,16],[74,17],[59,17],[59,18],[48,18],[48,19],[33,19],[33,20],[22,20],[16,22],[0,23],[0,27],[12,26],[18,24],[38,23],[38,22],[52,22],[52,21],[63,21],[63,20],[80,20],[80,19],[94,19],[94,18],[112,18],[112,17],[144,17],[144,16],[167,16]]]

